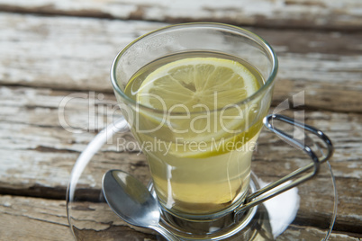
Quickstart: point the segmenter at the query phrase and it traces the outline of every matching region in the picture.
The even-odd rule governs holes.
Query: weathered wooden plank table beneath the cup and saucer
[[[72,240],[68,179],[89,141],[113,121],[113,58],[143,33],[198,21],[246,27],[274,47],[280,68],[271,109],[304,91],[304,104],[292,103],[284,113],[304,111],[305,122],[325,131],[336,148],[330,164],[339,206],[330,240],[361,240],[362,2],[244,2],[0,0],[0,240]],[[260,138],[256,163],[270,166],[291,156],[290,147],[267,137]],[[122,161],[123,169],[146,182],[143,156],[112,148],[99,155],[113,165]],[[264,174],[278,175],[276,170]],[[88,177],[89,185],[99,178],[92,172]],[[316,195],[309,213],[318,214],[331,198]],[[319,221],[299,228],[309,234],[305,240],[325,229]],[[125,234],[118,238],[156,240],[131,228]]]

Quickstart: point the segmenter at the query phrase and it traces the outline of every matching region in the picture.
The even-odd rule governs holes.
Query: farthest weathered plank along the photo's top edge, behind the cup
[[[1,0],[0,10],[19,13],[137,19],[159,22],[231,22],[268,27],[361,29],[362,4],[358,0]]]

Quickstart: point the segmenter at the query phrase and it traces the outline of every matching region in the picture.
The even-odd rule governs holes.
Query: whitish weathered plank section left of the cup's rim
[[[0,14],[3,85],[111,92],[113,58],[132,39],[165,24]],[[85,35],[86,34],[86,35]]]

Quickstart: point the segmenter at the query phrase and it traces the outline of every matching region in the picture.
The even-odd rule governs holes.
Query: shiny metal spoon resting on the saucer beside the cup
[[[124,221],[140,228],[151,228],[170,241],[179,241],[159,225],[158,201],[131,174],[109,170],[104,174],[102,188],[105,201]]]

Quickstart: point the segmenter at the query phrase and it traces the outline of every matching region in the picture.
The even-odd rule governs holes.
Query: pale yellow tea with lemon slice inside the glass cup
[[[248,62],[201,51],[159,58],[131,77],[124,93],[142,105],[131,130],[167,210],[203,216],[243,201],[265,116],[243,101],[263,84]]]

